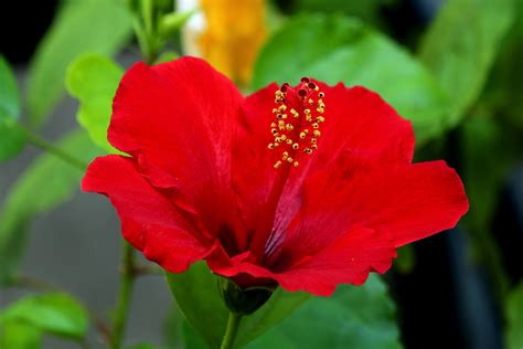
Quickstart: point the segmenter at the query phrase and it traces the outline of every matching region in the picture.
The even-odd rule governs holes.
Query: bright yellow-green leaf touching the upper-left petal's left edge
[[[124,70],[110,59],[92,53],[79,56],[67,70],[67,91],[79,102],[78,123],[108,152],[118,152],[107,140],[107,128],[122,75]]]

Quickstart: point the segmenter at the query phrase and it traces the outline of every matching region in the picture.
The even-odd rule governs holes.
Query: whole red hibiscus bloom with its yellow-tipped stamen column
[[[97,158],[124,237],[181,273],[205,260],[239,286],[330,295],[391,267],[396,248],[468,209],[444,161],[412,163],[414,134],[377,94],[302,78],[243,97],[184,57],[124,76]]]

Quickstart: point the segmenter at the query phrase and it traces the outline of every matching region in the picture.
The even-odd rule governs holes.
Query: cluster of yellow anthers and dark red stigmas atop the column
[[[270,124],[274,140],[267,146],[277,151],[275,169],[286,165],[298,167],[303,155],[310,156],[318,149],[320,125],[325,120],[323,96],[308,77],[302,77],[296,88],[285,83],[275,92],[275,120]]]

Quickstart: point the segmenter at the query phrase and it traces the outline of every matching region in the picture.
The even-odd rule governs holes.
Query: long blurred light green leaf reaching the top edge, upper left
[[[131,19],[115,0],[64,1],[31,62],[28,107],[41,125],[64,92],[65,71],[82,53],[114,54],[129,40]]]

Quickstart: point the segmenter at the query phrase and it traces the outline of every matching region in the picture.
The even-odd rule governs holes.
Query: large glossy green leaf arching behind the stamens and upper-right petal
[[[431,74],[359,20],[301,15],[276,32],[258,56],[254,88],[274,81],[295,84],[301,76],[376,91],[413,121],[418,142],[442,131],[446,96]]]

